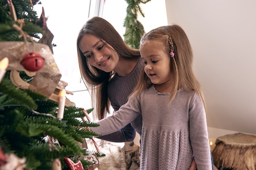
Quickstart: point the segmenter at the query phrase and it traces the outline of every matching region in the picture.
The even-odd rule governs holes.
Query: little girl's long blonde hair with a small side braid
[[[165,44],[164,51],[170,56],[171,75],[173,75],[170,103],[173,101],[177,89],[182,87],[186,91],[197,92],[206,110],[202,88],[193,73],[193,51],[184,30],[176,24],[160,26],[144,34],[141,38],[140,46],[143,46],[144,43],[148,41],[163,42]],[[171,52],[175,54],[174,57],[171,57]],[[131,95],[138,95],[145,88],[149,88],[150,86],[152,86],[152,83],[144,70],[142,70],[139,83]]]

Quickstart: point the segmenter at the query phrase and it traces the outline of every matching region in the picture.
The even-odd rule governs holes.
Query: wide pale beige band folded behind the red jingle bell
[[[32,42],[0,42],[0,60],[5,56],[9,58],[7,70],[26,72],[27,70],[20,64],[20,61],[29,51],[39,53],[45,59],[43,68],[36,72],[29,84],[29,89],[49,97],[61,79],[61,72],[49,46]]]

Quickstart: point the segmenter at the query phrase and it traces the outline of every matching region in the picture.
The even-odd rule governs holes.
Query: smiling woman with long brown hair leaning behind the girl
[[[110,104],[117,111],[128,101],[144,63],[139,50],[131,49],[103,18],[88,20],[76,43],[81,76],[92,92],[93,106],[100,120],[110,113]],[[133,141],[136,132],[141,135],[141,129],[140,115],[125,128],[98,138],[113,142]],[[193,161],[189,170],[195,168]]]

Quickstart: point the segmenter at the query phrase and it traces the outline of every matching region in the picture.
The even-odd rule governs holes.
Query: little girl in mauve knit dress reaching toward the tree
[[[126,104],[98,121],[94,132],[110,134],[142,115],[141,170],[211,170],[205,104],[192,71],[193,54],[180,26],[162,26],[141,39],[144,62]]]

